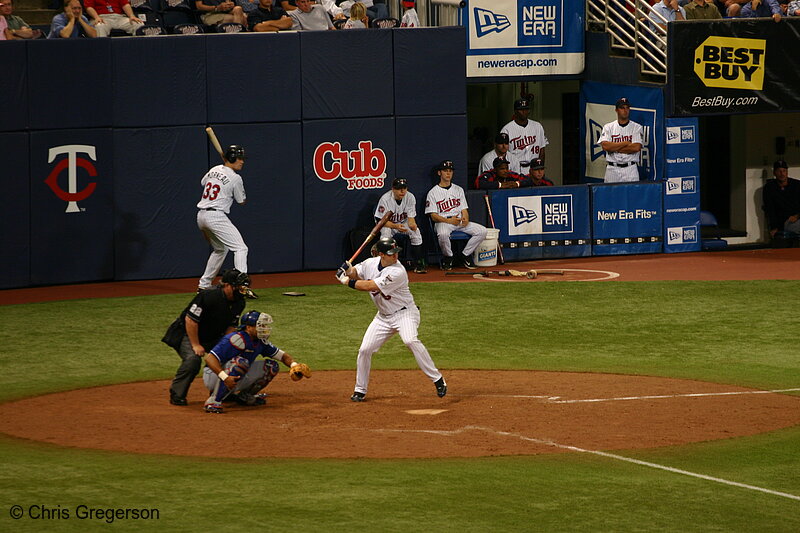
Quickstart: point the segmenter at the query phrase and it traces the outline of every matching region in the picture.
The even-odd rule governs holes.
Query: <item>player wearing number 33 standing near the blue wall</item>
[[[244,182],[237,174],[244,166],[244,158],[244,148],[232,144],[225,151],[225,164],[211,168],[200,180],[203,195],[197,203],[197,227],[213,248],[203,277],[200,278],[200,290],[211,288],[228,250],[233,251],[233,265],[236,270],[247,273],[247,245],[242,234],[228,218],[234,200],[239,205],[247,202]],[[258,298],[249,288],[245,296]]]

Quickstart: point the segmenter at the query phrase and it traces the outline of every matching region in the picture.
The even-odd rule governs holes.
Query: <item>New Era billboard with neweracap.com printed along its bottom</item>
[[[580,0],[468,0],[467,77],[580,74],[584,3]]]

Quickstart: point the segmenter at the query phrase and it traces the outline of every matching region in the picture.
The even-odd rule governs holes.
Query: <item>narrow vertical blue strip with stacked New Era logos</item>
[[[664,251],[700,249],[700,147],[696,118],[668,118]]]

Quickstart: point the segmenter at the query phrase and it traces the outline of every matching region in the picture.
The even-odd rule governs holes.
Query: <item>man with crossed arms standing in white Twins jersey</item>
[[[642,150],[642,126],[630,120],[631,104],[620,98],[614,106],[617,120],[603,126],[597,140],[606,152],[606,183],[639,181],[639,152]]]

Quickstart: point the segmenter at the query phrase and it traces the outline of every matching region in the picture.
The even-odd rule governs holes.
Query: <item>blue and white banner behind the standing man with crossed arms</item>
[[[603,181],[606,173],[606,153],[597,144],[603,125],[617,120],[614,104],[625,97],[631,103],[630,120],[642,125],[642,151],[639,152],[639,179],[663,178],[664,155],[664,96],[661,89],[585,82],[581,84],[581,162],[584,180]]]

